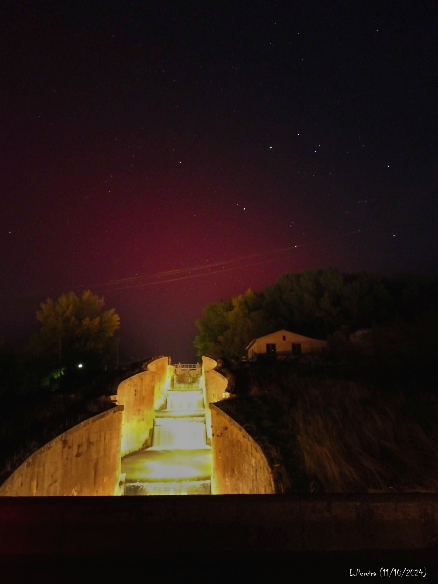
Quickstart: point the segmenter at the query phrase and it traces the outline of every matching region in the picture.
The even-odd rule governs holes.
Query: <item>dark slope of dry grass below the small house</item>
[[[248,396],[232,407],[240,423],[245,418],[255,425],[251,433],[258,439],[280,448],[292,491],[301,475],[307,478],[301,492],[438,492],[434,395],[276,376],[253,379]]]

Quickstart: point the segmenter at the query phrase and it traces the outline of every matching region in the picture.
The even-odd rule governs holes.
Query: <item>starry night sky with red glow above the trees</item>
[[[281,273],[436,273],[436,2],[4,6],[1,337],[91,288],[190,362]]]

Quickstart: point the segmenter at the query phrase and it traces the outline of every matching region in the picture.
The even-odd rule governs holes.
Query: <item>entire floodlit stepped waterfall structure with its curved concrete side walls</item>
[[[152,361],[103,396],[105,411],[34,452],[0,496],[277,492],[259,444],[215,405],[228,396],[216,361],[169,361]]]

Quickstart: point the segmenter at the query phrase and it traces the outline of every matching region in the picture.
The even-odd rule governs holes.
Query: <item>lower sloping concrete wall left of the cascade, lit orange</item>
[[[0,496],[114,495],[123,407],[84,420],[37,450],[0,486]]]

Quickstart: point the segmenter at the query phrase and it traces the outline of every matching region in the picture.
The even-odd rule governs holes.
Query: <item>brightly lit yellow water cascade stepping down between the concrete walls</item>
[[[155,411],[152,446],[124,456],[124,495],[208,495],[211,446],[201,366],[176,367],[164,408]]]

